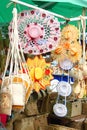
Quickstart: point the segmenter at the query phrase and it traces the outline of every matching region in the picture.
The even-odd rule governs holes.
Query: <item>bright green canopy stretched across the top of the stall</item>
[[[87,0],[20,0],[39,8],[44,8],[53,13],[65,16],[67,18],[74,18],[82,15],[83,8],[87,7]],[[6,33],[6,28],[12,19],[12,10],[15,4],[11,4],[10,0],[0,0],[0,28],[2,32]],[[29,10],[31,8],[16,4],[18,12]],[[62,21],[63,19],[60,19]],[[77,21],[73,22],[77,25]]]

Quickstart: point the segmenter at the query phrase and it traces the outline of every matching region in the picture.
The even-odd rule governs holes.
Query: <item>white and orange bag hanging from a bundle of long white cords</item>
[[[22,49],[20,48],[20,52],[19,52],[19,47],[18,47],[16,8],[13,9],[12,35],[11,35],[9,50],[10,51],[7,57],[5,72],[3,76],[2,90],[5,87],[10,88],[11,95],[12,95],[12,109],[23,110],[25,103],[27,103],[32,90],[30,88],[30,77],[25,62],[25,58]],[[25,63],[26,66],[23,66],[22,63]],[[8,65],[10,66],[9,76],[6,77],[5,74]],[[25,70],[25,73],[23,73],[23,69]]]

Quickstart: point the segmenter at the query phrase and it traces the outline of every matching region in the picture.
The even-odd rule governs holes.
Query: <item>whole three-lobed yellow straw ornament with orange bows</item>
[[[54,59],[63,62],[69,59],[72,63],[80,61],[82,56],[82,46],[77,41],[79,31],[74,25],[66,25],[61,31],[61,39],[55,50],[52,52]]]

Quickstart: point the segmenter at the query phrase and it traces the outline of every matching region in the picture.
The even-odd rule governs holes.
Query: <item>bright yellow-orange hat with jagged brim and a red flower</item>
[[[50,85],[50,80],[53,79],[51,64],[46,63],[44,58],[36,56],[34,59],[28,58],[27,65],[33,81],[33,89],[36,92],[46,89]]]

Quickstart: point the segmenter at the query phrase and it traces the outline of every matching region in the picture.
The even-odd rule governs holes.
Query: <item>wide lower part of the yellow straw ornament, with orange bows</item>
[[[53,59],[59,62],[69,59],[72,63],[78,62],[82,56],[82,46],[79,42],[60,40],[58,47],[52,52]]]

